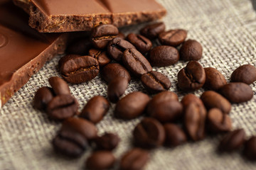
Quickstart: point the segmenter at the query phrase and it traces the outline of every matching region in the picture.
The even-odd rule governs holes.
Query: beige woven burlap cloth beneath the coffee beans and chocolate
[[[188,38],[203,45],[203,67],[215,67],[229,80],[233,70],[242,64],[256,65],[256,14],[249,0],[159,0],[168,11],[163,19],[167,29],[185,28]],[[137,31],[140,26],[124,28],[124,33]],[[0,111],[0,169],[84,169],[90,151],[80,159],[67,159],[53,152],[50,144],[60,128],[60,123],[49,120],[45,113],[32,108],[33,96],[41,86],[48,86],[48,78],[59,76],[55,69],[60,57],[48,62],[38,74],[19,90]],[[176,88],[176,74],[186,65],[154,68],[171,79],[170,91],[185,94]],[[256,91],[256,83],[252,84]],[[95,95],[107,95],[107,84],[100,77],[79,85],[70,86],[78,98],[80,110]],[[144,91],[142,84],[132,80],[126,94]],[[203,90],[196,91],[200,96]],[[233,105],[230,116],[233,127],[245,128],[247,137],[256,135],[256,97],[242,104]],[[141,118],[122,121],[112,118],[114,105],[104,120],[97,124],[99,132],[116,132],[122,142],[114,151],[119,157],[131,147],[132,130]],[[207,137],[201,142],[188,142],[176,148],[161,147],[151,152],[145,169],[256,169],[237,152],[216,154],[220,135]]]

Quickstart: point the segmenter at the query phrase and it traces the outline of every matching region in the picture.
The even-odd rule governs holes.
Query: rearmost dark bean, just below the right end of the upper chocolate
[[[140,33],[146,38],[154,39],[157,38],[160,33],[164,32],[164,30],[164,23],[153,23],[142,28],[142,30],[140,30]]]

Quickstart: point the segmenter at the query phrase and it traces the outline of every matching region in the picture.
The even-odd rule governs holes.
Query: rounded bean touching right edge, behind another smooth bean
[[[231,74],[231,81],[252,84],[256,81],[256,68],[250,64],[245,64]]]

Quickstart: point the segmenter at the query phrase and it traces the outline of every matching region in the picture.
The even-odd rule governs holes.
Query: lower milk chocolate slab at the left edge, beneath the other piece
[[[64,52],[66,39],[38,33],[28,26],[27,13],[0,0],[0,108],[46,61]]]

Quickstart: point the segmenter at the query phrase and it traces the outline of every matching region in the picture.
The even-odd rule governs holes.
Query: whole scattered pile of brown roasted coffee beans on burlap
[[[68,55],[58,63],[63,79],[80,84],[100,73],[108,84],[107,98],[94,96],[78,112],[78,101],[63,79],[51,77],[52,88],[38,89],[35,108],[46,111],[50,118],[63,120],[53,139],[56,152],[80,157],[92,147],[94,152],[85,162],[87,169],[115,166],[117,159],[112,151],[120,138],[111,132],[98,136],[95,126],[107,114],[111,102],[116,103],[114,118],[131,120],[145,116],[133,130],[134,148],[119,160],[119,169],[143,169],[149,152],[156,147],[176,147],[188,140],[196,142],[208,134],[225,132],[228,134],[220,142],[220,152],[244,146],[245,157],[255,159],[256,137],[246,140],[244,130],[233,130],[228,114],[231,103],[250,101],[253,97],[250,84],[256,81],[256,68],[250,64],[238,67],[228,83],[217,69],[201,66],[198,60],[203,47],[196,40],[186,40],[186,30],[165,31],[164,23],[154,23],[142,28],[140,34],[129,33],[125,38],[116,27],[100,25],[92,29],[90,41],[78,40],[67,48]],[[203,87],[206,91],[200,98],[187,94],[178,101],[178,96],[168,91],[169,78],[152,70],[152,66],[166,67],[179,60],[188,63],[177,73],[178,89],[191,92]],[[122,97],[131,77],[140,79],[149,94],[134,91]],[[151,98],[151,94],[156,95]]]

